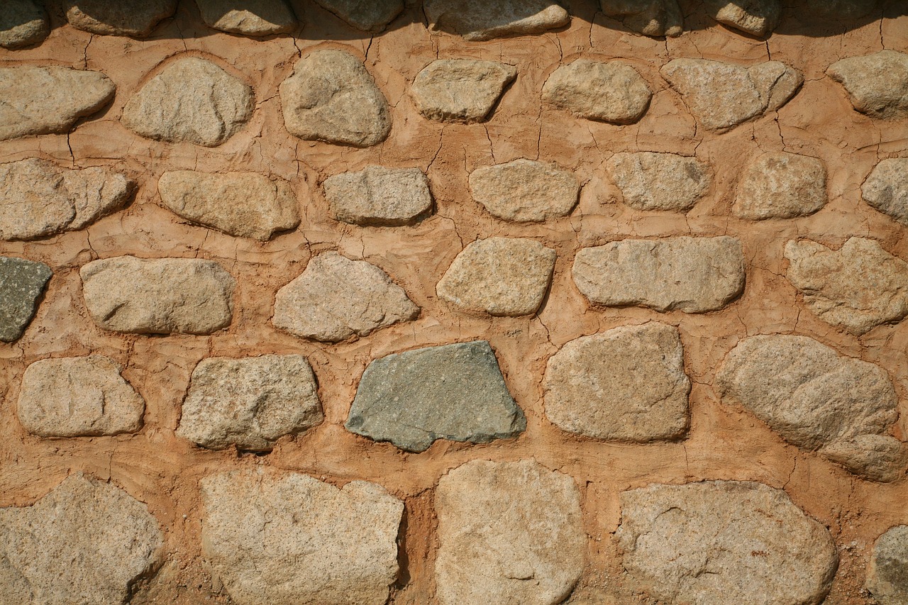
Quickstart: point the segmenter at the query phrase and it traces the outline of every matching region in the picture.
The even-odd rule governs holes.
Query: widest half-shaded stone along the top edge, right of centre
[[[426,0],[429,29],[481,42],[542,34],[570,24],[568,11],[552,0]]]

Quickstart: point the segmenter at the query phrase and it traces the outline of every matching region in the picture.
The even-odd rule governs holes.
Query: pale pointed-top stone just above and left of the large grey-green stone
[[[272,321],[297,336],[340,342],[418,315],[419,307],[388,273],[327,252],[312,258],[299,277],[278,291]]]

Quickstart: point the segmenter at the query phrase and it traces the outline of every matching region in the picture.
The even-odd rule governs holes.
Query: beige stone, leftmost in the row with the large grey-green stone
[[[44,359],[28,366],[17,409],[41,437],[94,437],[142,428],[145,402],[104,355]]]

